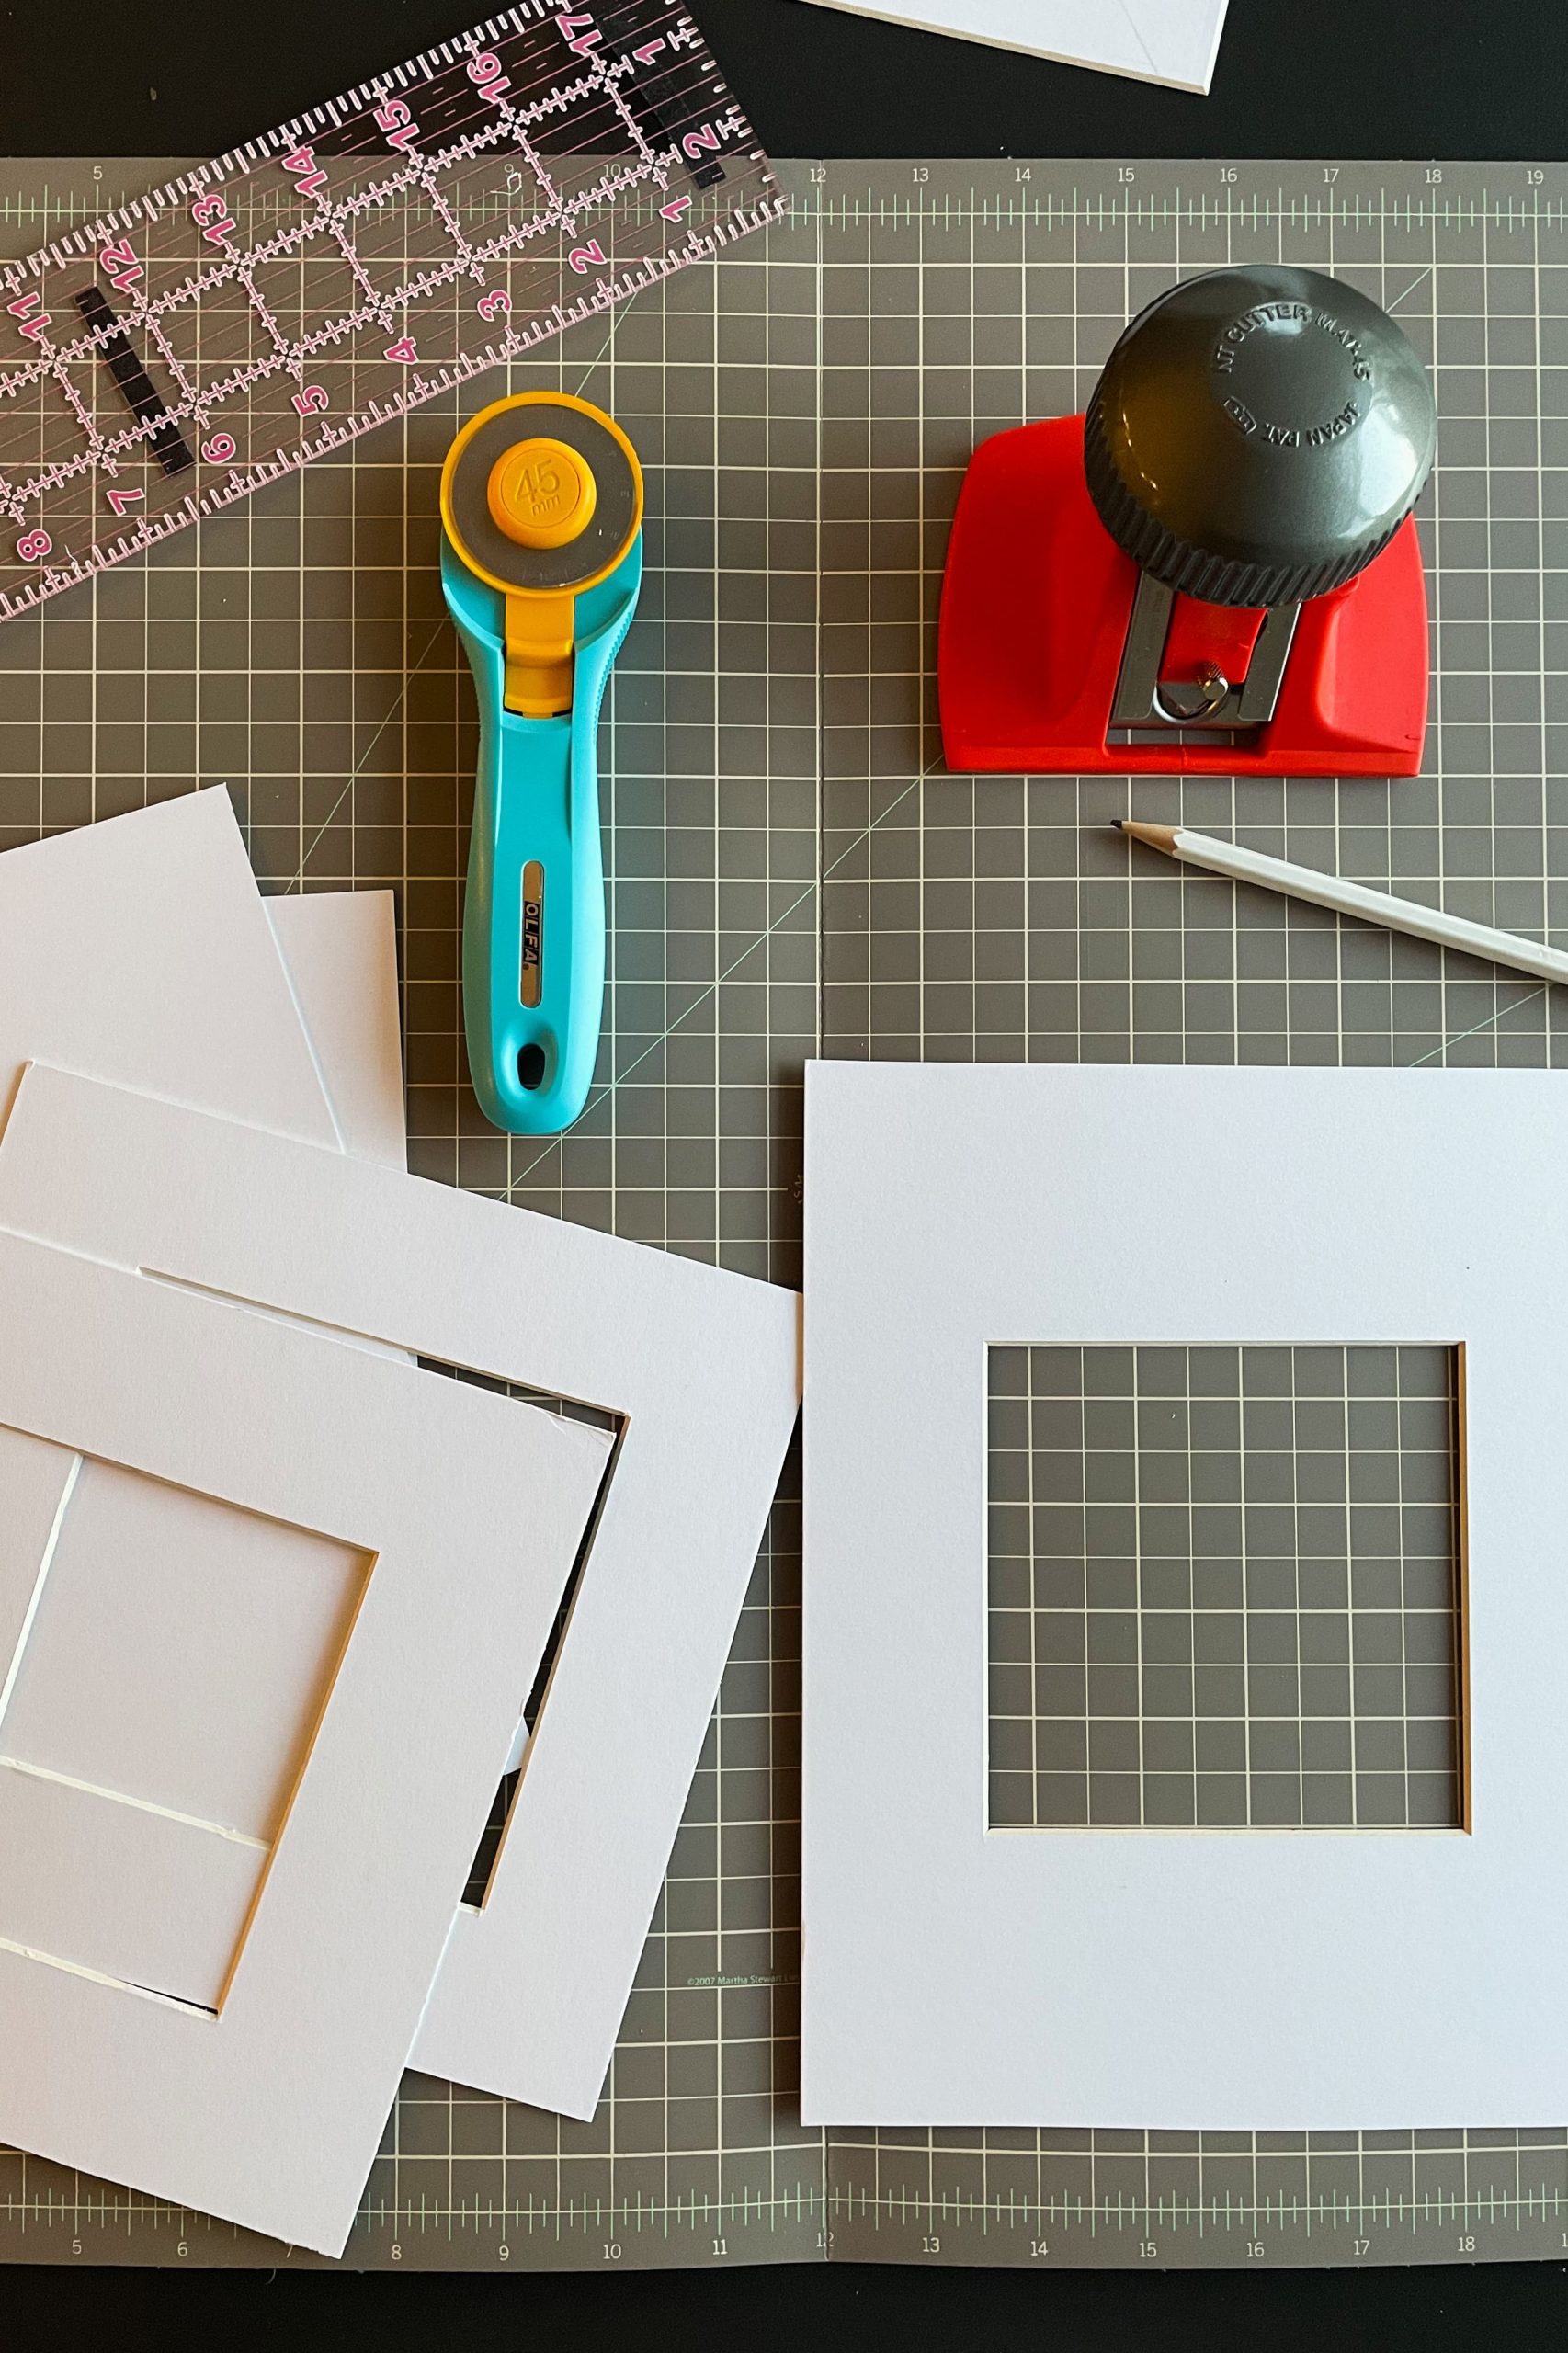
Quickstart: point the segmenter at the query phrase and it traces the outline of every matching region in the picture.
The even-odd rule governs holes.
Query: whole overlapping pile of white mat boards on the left
[[[221,791],[0,859],[0,2137],[339,2252],[410,2057],[593,2111],[798,1301],[403,1174],[391,901]]]

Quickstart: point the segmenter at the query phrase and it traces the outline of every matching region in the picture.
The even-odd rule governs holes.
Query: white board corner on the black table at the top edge
[[[1067,66],[1205,92],[1229,0],[819,0]]]

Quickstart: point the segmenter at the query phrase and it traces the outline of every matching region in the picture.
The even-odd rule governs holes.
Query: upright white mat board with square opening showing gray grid
[[[810,1066],[810,2122],[1568,2106],[1563,1167],[1556,1073]],[[1471,1831],[989,1831],[986,1346],[1236,1341],[1464,1346]]]

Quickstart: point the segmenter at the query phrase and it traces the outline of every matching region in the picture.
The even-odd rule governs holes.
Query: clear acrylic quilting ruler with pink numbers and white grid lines
[[[775,219],[673,0],[518,0],[0,271],[0,619]]]

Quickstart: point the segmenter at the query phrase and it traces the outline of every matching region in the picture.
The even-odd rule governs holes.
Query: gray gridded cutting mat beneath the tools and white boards
[[[167,169],[12,165],[0,176],[5,249],[26,252]],[[1436,362],[1443,452],[1422,525],[1439,664],[1427,772],[1344,788],[1147,781],[1137,809],[1234,826],[1568,939],[1568,593],[1556,569],[1568,553],[1568,169],[836,162],[800,165],[789,186],[793,212],[765,238],[516,372],[516,386],[565,384],[612,407],[650,478],[647,588],[605,736],[605,1052],[565,1144],[494,1136],[461,1078],[473,725],[436,581],[450,412],[372,435],[151,565],[7,624],[0,842],[193,781],[228,784],[268,887],[398,885],[417,1169],[784,1280],[798,1275],[800,1061],[817,1047],[1566,1059],[1563,1005],[1540,986],[1130,859],[1104,831],[1128,807],[1116,779],[946,776],[932,626],[951,504],[982,433],[1081,407],[1123,320],[1177,268],[1283,254],[1349,273],[1394,304]],[[1041,1372],[1062,1381],[1067,1367]],[[1067,1381],[1055,1402],[1085,1409],[1095,1372],[1078,1372],[1078,1393]],[[1354,1372],[1344,1367],[1347,1412]],[[1278,1367],[1260,1379],[1262,1391],[1248,1388],[1238,1367],[1238,1409],[1283,1400]],[[1135,1374],[1132,1405],[1142,1386]],[[1297,1391],[1311,1395],[1293,1372]],[[1189,1386],[1189,1409],[1196,1398]],[[1142,1445],[1123,1431],[1123,1461]],[[1050,1478],[1059,1435],[1031,1435],[1026,1452]],[[1344,1459],[1366,1452],[1347,1445]],[[1297,1426],[1264,1426],[1241,1445],[1248,1478],[1264,1459],[1271,1475],[1283,1461],[1293,1478],[1316,1475],[1311,1464],[1302,1473],[1316,1454],[1333,1445]],[[1415,1414],[1413,1431],[1396,1417],[1394,1454],[1413,1480],[1434,1480],[1429,1417]],[[1469,2118],[1415,2137],[1198,2139],[1085,2120],[1050,2134],[836,2134],[831,2146],[800,2132],[796,1494],[791,1480],[598,2118],[563,2125],[410,2078],[348,2261],[1563,2257],[1559,2127]],[[1427,1501],[1441,1511],[1441,1497]],[[1410,1579],[1401,1567],[1391,1584],[1387,1555],[1361,1560],[1349,1537],[1344,1577],[1382,1572],[1366,1609],[1380,1638],[1398,1635],[1408,1673],[1410,1645],[1441,1649],[1453,1621],[1441,1548],[1420,1553],[1431,1529],[1398,1541]],[[1212,1612],[1215,1640],[1227,1626],[1250,1633],[1255,1607],[1234,1591]],[[1116,1635],[1102,1624],[1116,1612],[1116,1591],[1090,1609],[1085,1588],[1085,1652]],[[1304,1642],[1300,1607],[1274,1614],[1293,1617]],[[1347,1649],[1358,1614],[1337,1612]],[[1104,1715],[1085,1699],[1085,1755],[1090,1744],[1125,1755],[1125,1687],[1102,1697]],[[1243,1689],[1248,1739],[1262,1713]],[[1031,1692],[1029,1739],[1059,1720]],[[1194,1685],[1194,1805],[1210,1779],[1198,1739],[1234,1720],[1234,1704],[1201,1708]],[[1281,1722],[1295,1725],[1295,1765]],[[1304,1798],[1309,1722],[1330,1727],[1323,1755],[1354,1739],[1356,1753],[1370,1741],[1391,1758],[1398,1737],[1403,1802],[1431,1798],[1413,1777],[1443,1779],[1450,1718],[1424,1685],[1401,1689],[1398,1708],[1387,1680],[1351,1687],[1321,1718],[1297,1685],[1295,1718],[1264,1727],[1274,1746],[1243,1739],[1236,1751],[1227,1734],[1241,1762],[1215,1767],[1224,1802],[1264,1802],[1262,1781],[1293,1774]],[[1182,1779],[1184,1746],[1170,1755],[1156,1769]],[[1130,1772],[1107,1769],[1114,1784]],[[1351,1769],[1344,1786],[1342,1769],[1311,1769],[1337,1772],[1333,1802],[1351,1805],[1373,1774]],[[1088,1807],[1090,1779],[1081,1800],[1050,1795]],[[1387,1791],[1368,1786],[1366,1798]],[[1170,2026],[1180,2033],[1180,2019]],[[0,2155],[0,2252],[280,2259],[19,2155]]]

